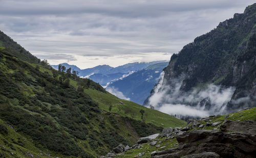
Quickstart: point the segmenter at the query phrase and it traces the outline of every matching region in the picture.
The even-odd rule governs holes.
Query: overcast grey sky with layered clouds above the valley
[[[251,0],[5,0],[0,30],[50,64],[169,60]]]

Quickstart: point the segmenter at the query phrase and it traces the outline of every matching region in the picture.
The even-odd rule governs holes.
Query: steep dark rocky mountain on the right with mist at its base
[[[144,105],[205,117],[256,105],[256,4],[220,22],[170,59]]]

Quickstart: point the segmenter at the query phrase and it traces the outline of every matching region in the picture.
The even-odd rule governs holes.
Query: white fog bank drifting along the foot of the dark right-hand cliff
[[[209,115],[223,114],[230,101],[234,87],[222,87],[204,84],[188,92],[180,90],[184,76],[172,79],[172,86],[164,85],[164,72],[148,98],[146,106],[175,115],[178,118],[200,118]]]

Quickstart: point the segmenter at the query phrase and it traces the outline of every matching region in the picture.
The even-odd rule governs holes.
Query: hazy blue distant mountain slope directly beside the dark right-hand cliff
[[[150,65],[145,69],[141,69],[122,78],[122,80],[112,82],[106,87],[106,90],[115,94],[121,92],[126,98],[142,104],[147,96],[150,95],[152,88],[158,81],[157,79],[160,73],[167,65],[168,62]]]

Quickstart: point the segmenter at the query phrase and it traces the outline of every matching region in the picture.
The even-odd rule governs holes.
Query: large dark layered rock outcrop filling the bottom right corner
[[[193,130],[176,136],[179,147],[153,153],[152,157],[255,157],[256,137],[246,133]],[[215,152],[215,153],[213,153]],[[200,153],[200,154],[197,154]]]

